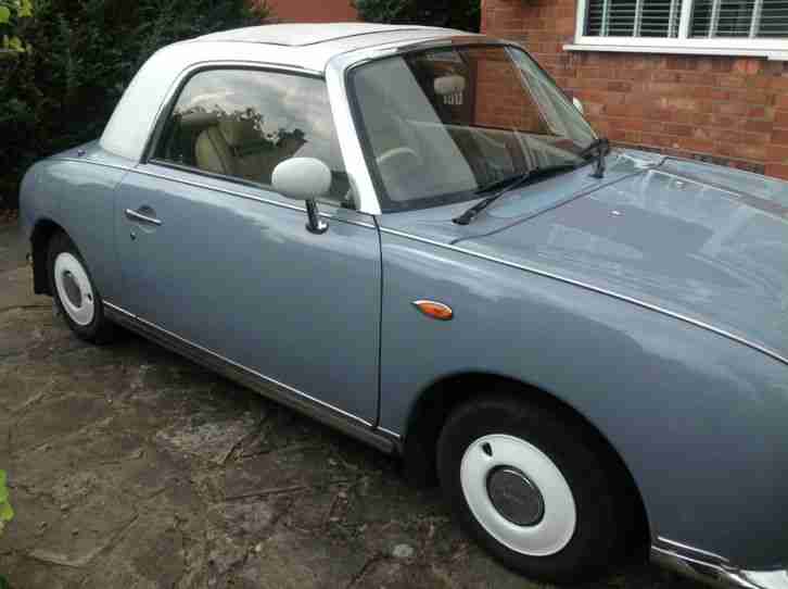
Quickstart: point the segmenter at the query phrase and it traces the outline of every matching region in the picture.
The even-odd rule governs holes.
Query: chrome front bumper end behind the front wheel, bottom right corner
[[[743,571],[730,565],[724,556],[666,538],[653,542],[651,561],[721,589],[788,589],[788,571]]]

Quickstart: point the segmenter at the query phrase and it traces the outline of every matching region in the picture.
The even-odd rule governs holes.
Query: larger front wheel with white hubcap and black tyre
[[[534,579],[598,577],[634,519],[603,442],[548,404],[496,394],[457,408],[441,433],[437,466],[462,526]]]

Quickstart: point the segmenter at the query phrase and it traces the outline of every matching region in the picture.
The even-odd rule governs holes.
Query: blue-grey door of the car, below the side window
[[[377,419],[381,277],[371,217],[325,205],[331,230],[315,235],[301,203],[156,164],[129,173],[116,198],[124,292],[111,302],[369,425]],[[125,215],[142,206],[162,225]]]

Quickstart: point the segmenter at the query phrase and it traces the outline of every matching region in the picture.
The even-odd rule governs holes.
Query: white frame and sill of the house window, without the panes
[[[696,55],[763,57],[788,61],[788,39],[770,38],[700,38],[689,36],[695,0],[684,0],[677,37],[595,37],[585,35],[588,0],[577,0],[574,43],[567,51],[622,51],[634,53],[678,53]],[[677,0],[674,0],[676,7]],[[755,1],[755,11],[762,0]]]

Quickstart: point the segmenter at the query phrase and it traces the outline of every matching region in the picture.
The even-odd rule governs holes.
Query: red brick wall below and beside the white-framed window
[[[788,62],[567,52],[575,4],[482,0],[482,32],[523,43],[620,145],[788,178]]]

